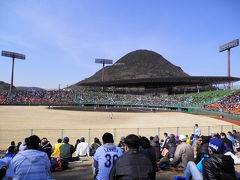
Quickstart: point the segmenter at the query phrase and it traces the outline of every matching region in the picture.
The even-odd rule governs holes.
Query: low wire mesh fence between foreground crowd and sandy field
[[[232,130],[240,131],[237,125],[218,125],[218,126],[201,126],[202,135],[211,135],[212,133],[220,133]],[[104,129],[1,129],[0,130],[0,149],[5,150],[11,141],[18,143],[30,135],[37,135],[41,138],[47,137],[51,144],[55,144],[58,138],[69,137],[70,143],[75,144],[76,140],[85,137],[86,142],[93,143],[94,137],[101,140],[105,132],[110,132],[114,136],[114,141],[119,142],[122,136],[136,134],[140,136],[155,136],[163,138],[163,133],[168,134],[193,134],[194,127],[159,127],[159,128],[104,128]]]

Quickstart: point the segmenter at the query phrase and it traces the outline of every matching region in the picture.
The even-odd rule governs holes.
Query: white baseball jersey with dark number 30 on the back
[[[98,162],[96,179],[109,180],[109,174],[113,164],[122,154],[122,149],[112,143],[106,143],[100,146],[93,157],[93,159]]]

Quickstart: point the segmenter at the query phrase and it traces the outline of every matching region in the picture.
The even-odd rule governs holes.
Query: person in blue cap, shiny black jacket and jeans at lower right
[[[223,155],[224,149],[224,142],[221,139],[212,138],[208,146],[209,157],[202,161],[203,174],[200,173],[194,162],[190,161],[184,171],[184,176],[187,179],[193,177],[195,180],[236,180],[233,159]]]

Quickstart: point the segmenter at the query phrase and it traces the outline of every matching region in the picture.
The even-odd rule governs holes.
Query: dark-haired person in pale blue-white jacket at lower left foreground
[[[45,152],[39,151],[40,139],[30,136],[27,150],[19,152],[10,162],[14,179],[49,179],[50,161]]]

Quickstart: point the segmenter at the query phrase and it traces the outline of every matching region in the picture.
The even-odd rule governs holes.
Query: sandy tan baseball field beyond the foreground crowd
[[[36,134],[47,137],[52,143],[58,138],[70,137],[70,143],[86,137],[92,142],[106,131],[113,133],[115,141],[134,133],[144,136],[164,132],[191,134],[194,124],[202,134],[239,129],[239,126],[207,116],[181,112],[89,112],[48,109],[46,106],[0,106],[0,149],[6,149],[12,140],[23,141]]]

